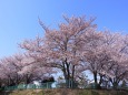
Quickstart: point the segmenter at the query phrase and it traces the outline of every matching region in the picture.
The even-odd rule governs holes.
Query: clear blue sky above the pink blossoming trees
[[[43,35],[38,17],[56,28],[62,14],[96,17],[98,30],[128,33],[128,0],[0,0],[0,57],[19,52],[24,39]]]

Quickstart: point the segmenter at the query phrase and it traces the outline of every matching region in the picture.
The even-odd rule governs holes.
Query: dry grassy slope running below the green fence
[[[13,91],[0,95],[128,95],[128,91],[95,91],[95,89],[26,89]]]

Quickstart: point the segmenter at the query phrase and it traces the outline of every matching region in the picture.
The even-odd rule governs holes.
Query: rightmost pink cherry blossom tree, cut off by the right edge
[[[108,51],[110,52],[111,63],[106,66],[106,76],[111,82],[114,88],[117,88],[119,83],[125,81],[128,75],[128,38],[121,34],[118,34],[115,39],[111,36],[114,34],[108,36]]]

